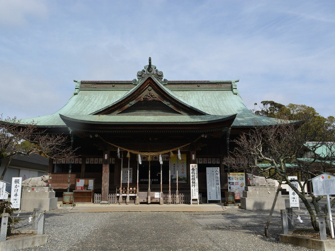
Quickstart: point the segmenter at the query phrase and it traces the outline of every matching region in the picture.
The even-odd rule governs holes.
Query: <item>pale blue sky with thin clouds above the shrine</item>
[[[61,108],[77,80],[132,80],[148,57],[167,80],[236,80],[335,115],[335,1],[0,0],[0,113]]]

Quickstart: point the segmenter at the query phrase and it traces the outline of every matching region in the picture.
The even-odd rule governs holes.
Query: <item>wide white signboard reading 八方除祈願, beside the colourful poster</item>
[[[207,203],[209,200],[219,200],[221,203],[220,168],[207,167]]]

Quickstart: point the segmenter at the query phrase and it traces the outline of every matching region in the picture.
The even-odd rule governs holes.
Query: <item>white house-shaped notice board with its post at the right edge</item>
[[[334,226],[333,226],[333,217],[332,210],[330,207],[330,197],[329,195],[335,194],[335,176],[331,174],[321,174],[312,179],[313,184],[313,194],[318,195],[326,195],[327,196],[327,207],[330,218],[330,228],[332,233],[332,238],[334,239]]]

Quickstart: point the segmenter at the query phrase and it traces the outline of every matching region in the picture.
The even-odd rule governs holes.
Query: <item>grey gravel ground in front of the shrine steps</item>
[[[304,215],[304,210],[299,213]],[[21,212],[20,215],[31,214]],[[69,212],[46,213],[46,245],[22,251],[54,250],[310,250],[279,243],[280,212],[273,214],[269,232],[263,237],[269,210],[227,209],[225,212]],[[305,218],[304,218],[305,217]],[[259,219],[259,225],[201,227],[197,220]],[[295,217],[296,218],[296,217]],[[302,216],[308,224],[308,217]],[[297,221],[297,220],[296,220]],[[24,218],[15,229],[31,228]]]

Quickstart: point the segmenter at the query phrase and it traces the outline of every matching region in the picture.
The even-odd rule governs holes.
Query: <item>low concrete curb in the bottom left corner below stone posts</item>
[[[5,250],[20,250],[35,246],[44,245],[47,243],[48,235],[33,235],[18,237],[6,241],[0,241],[0,251]]]

